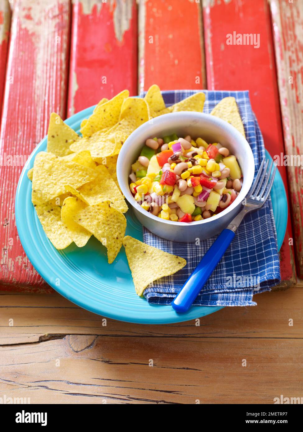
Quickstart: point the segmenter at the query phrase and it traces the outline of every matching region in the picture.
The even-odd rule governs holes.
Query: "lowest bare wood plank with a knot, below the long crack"
[[[272,404],[300,396],[302,352],[302,339],[67,336],[1,347],[0,391],[30,403]]]

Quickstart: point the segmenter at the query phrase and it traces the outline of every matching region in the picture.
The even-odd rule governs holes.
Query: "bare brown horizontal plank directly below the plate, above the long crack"
[[[258,337],[300,338],[303,332],[302,283],[281,292],[255,295],[257,306],[223,308],[214,314],[179,324],[139,325],[104,320],[73,305],[58,294],[0,295],[0,345],[34,337],[47,340],[58,335],[104,337]],[[13,320],[13,321],[12,321]],[[293,326],[290,321],[293,320]],[[200,324],[198,326],[197,324]],[[10,335],[12,341],[10,341]],[[18,339],[17,339],[18,340]]]

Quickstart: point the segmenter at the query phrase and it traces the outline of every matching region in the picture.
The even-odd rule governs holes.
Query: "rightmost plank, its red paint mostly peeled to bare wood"
[[[303,155],[303,2],[271,0],[285,153]],[[303,158],[301,158],[303,159]],[[301,162],[302,163],[302,162]],[[303,277],[303,175],[287,166],[293,211],[297,273]]]

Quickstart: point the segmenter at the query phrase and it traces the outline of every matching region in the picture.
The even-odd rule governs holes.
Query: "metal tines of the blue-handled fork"
[[[246,197],[246,201],[251,203],[258,203],[259,206],[263,205],[263,203],[267,200],[268,195],[271,191],[271,187],[274,183],[274,176],[277,170],[277,165],[274,164],[274,161],[271,162],[268,170],[268,162],[269,161],[267,160],[265,163],[265,158],[262,160],[255,181],[252,184],[252,187]],[[273,165],[274,169],[272,171]]]

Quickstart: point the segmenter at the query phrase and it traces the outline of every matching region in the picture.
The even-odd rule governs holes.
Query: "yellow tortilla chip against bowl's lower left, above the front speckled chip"
[[[97,177],[87,184],[77,188],[75,195],[82,199],[85,203],[93,206],[101,203],[102,201],[110,200],[114,206],[122,213],[128,211],[128,206],[119,191],[117,185],[109,175],[107,168],[104,165],[96,167]],[[70,184],[66,184],[66,190],[72,192]]]

